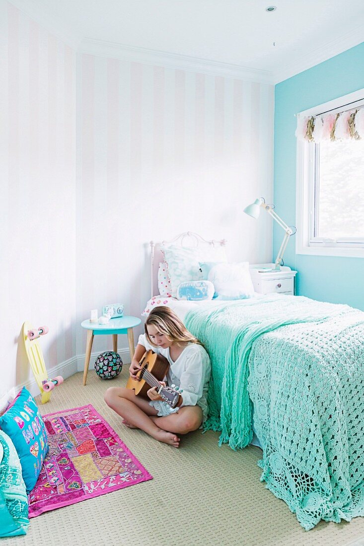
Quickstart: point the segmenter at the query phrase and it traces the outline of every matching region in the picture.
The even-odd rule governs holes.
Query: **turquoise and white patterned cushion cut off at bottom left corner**
[[[16,449],[0,430],[0,537],[26,535],[28,497]]]

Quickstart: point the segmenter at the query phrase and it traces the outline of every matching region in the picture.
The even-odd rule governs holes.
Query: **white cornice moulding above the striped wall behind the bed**
[[[79,53],[102,57],[118,58],[122,61],[152,64],[175,70],[187,70],[224,78],[235,78],[260,84],[273,85],[273,73],[266,70],[256,70],[240,67],[237,64],[208,61],[196,57],[164,53],[152,49],[133,48],[109,41],[91,40],[85,38],[77,50]]]

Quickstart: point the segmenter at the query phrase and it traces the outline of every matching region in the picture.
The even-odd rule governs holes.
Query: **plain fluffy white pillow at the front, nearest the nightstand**
[[[249,262],[201,263],[200,265],[203,271],[208,271],[208,281],[214,284],[216,299],[240,300],[254,295]]]

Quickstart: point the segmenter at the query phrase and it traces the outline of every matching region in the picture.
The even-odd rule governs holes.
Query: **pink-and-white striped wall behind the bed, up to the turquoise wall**
[[[191,230],[271,260],[269,222],[242,210],[272,197],[273,86],[80,54],[77,88],[78,321],[117,301],[140,316],[151,239]]]

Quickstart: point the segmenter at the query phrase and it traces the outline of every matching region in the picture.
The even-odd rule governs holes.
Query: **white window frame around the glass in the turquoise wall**
[[[364,104],[364,89],[304,110],[300,112],[300,116],[336,113],[336,111],[350,110],[362,104]],[[315,202],[318,200],[319,147],[319,144],[297,139],[296,253],[364,257],[364,238],[340,238],[333,241],[315,236],[315,227],[318,225],[318,209],[315,207]]]

